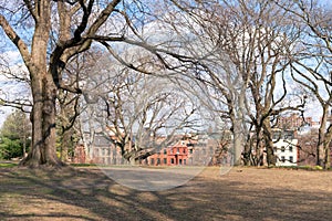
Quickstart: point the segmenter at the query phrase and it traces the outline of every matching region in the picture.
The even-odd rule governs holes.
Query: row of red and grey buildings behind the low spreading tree
[[[173,145],[159,147],[147,158],[138,159],[141,165],[147,166],[208,166],[230,162],[228,147],[231,137],[214,135],[178,135]],[[113,135],[114,136],[114,135]],[[124,159],[121,148],[104,134],[97,133],[89,147],[77,145],[74,150],[73,162],[101,164],[101,165],[128,165]],[[162,144],[165,137],[159,137]],[[134,140],[133,140],[134,143]]]

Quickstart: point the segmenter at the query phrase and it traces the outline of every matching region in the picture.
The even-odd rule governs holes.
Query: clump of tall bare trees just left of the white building
[[[271,118],[304,105],[303,97],[293,105],[282,103],[288,94],[286,72],[290,66],[286,52],[297,38],[286,35],[284,25],[289,24],[282,23],[284,12],[271,1],[221,1],[194,9],[185,3],[177,6],[189,19],[176,25],[177,20],[172,18],[169,23],[177,33],[186,33],[183,25],[194,30],[188,35],[193,39],[194,32],[195,41],[190,44],[188,40],[186,48],[200,65],[195,65],[195,77],[208,85],[224,106],[220,116],[230,118],[236,159],[246,144],[243,156],[249,164],[251,152],[258,152],[263,141],[267,161],[273,165]]]

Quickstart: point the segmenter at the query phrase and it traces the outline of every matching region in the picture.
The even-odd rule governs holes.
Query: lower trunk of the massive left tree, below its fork
[[[32,145],[22,166],[63,166],[55,149],[55,98],[56,88],[50,74],[32,81]]]

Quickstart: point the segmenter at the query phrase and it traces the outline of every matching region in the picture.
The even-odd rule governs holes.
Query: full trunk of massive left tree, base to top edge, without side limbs
[[[28,157],[22,160],[21,165],[29,167],[62,166],[55,149],[56,85],[50,71],[52,67],[48,66],[51,30],[50,1],[41,1],[37,12],[31,56],[24,59],[30,72],[33,98],[32,145]]]

